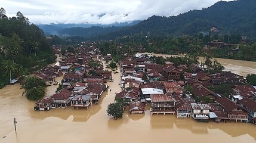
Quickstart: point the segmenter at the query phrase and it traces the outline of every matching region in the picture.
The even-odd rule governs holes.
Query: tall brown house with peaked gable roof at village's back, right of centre
[[[174,66],[168,66],[164,69],[164,76],[166,80],[180,80],[181,71]]]

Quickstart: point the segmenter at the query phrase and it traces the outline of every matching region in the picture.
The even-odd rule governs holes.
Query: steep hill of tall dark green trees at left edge
[[[29,74],[32,67],[53,63],[55,55],[44,32],[20,12],[7,17],[0,9],[0,86],[21,74]]]

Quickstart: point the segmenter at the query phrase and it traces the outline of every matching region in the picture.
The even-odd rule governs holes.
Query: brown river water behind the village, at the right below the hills
[[[177,57],[183,55],[167,55],[167,54],[155,54],[155,53],[141,53],[151,54],[162,57]],[[212,58],[212,60],[218,60],[225,67],[225,71],[232,71],[233,73],[239,74],[240,76],[246,76],[247,74],[256,73],[256,62],[254,61],[243,61],[243,60],[232,60],[227,58]],[[199,62],[203,62],[203,57],[199,57]]]

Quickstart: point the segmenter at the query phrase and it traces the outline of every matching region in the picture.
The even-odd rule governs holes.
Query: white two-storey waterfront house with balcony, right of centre
[[[208,121],[209,120],[209,104],[198,104],[191,103],[192,107],[192,117],[195,120],[199,121]]]

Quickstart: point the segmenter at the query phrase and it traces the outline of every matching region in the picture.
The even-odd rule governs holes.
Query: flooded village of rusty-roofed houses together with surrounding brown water
[[[156,64],[147,53],[112,69],[111,55],[95,45],[65,54],[55,47],[57,63],[34,73],[49,85],[38,102],[28,101],[18,84],[0,89],[0,142],[255,142],[256,89],[243,77],[254,71],[245,64],[236,69],[220,59],[225,71],[209,74],[197,64]],[[211,88],[218,85],[230,85],[232,93],[218,94]],[[119,98],[127,106],[113,120],[107,105]]]

